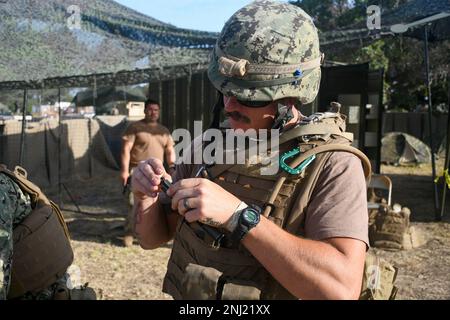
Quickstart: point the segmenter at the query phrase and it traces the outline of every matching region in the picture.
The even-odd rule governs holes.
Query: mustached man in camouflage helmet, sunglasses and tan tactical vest
[[[358,299],[369,247],[367,158],[350,147],[345,117],[305,117],[323,56],[302,9],[255,1],[236,12],[208,76],[232,129],[277,129],[280,170],[160,160],[132,177],[144,249],[174,240],[163,291],[175,299]],[[335,110],[337,111],[337,110]],[[255,169],[256,168],[256,169]],[[173,182],[161,192],[161,177]],[[167,205],[168,204],[168,205]]]

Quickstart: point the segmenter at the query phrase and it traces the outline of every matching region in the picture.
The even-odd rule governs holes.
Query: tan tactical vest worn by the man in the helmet
[[[345,132],[345,116],[315,114],[280,136],[280,153],[293,147],[300,150],[289,164],[292,168],[316,155],[301,174],[264,176],[260,175],[261,164],[218,165],[209,170],[209,178],[242,201],[264,208],[264,216],[279,227],[303,236],[305,209],[332,152],[355,154],[366,177],[370,176],[369,160],[351,143],[352,135]],[[175,299],[296,299],[243,246],[218,247],[198,224],[184,220],[177,225],[163,291]]]

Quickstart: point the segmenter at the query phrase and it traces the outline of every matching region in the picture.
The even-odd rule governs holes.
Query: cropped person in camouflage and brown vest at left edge
[[[0,300],[95,300],[87,285],[69,288],[73,257],[59,208],[23,168],[0,164]]]

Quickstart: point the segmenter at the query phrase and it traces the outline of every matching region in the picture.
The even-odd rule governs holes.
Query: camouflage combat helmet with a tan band
[[[241,101],[317,96],[323,55],[311,17],[288,3],[259,0],[225,24],[208,76],[217,90]]]

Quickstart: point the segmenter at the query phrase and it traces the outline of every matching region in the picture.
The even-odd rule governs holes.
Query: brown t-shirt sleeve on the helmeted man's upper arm
[[[174,181],[190,177],[193,167],[177,166]],[[366,197],[360,159],[346,152],[333,153],[319,175],[306,209],[306,238],[352,238],[369,247]]]

